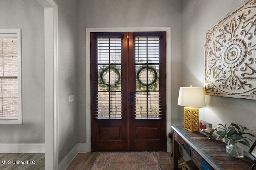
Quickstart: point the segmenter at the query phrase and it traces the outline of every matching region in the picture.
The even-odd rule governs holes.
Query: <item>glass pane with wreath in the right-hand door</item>
[[[136,119],[160,119],[159,37],[135,37]]]

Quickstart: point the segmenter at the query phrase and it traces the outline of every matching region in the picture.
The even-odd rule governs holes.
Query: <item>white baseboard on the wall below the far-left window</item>
[[[44,153],[44,143],[0,143],[0,153]]]

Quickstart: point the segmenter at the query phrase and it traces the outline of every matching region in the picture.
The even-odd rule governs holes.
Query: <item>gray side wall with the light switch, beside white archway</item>
[[[54,0],[58,5],[58,64],[59,64],[59,162],[78,143],[76,51],[76,0]],[[74,95],[74,102],[69,96]],[[47,146],[46,146],[47,147]]]

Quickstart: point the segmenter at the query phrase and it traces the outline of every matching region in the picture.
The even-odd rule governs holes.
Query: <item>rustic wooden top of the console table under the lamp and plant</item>
[[[217,141],[216,137],[208,140],[206,135],[199,131],[190,132],[183,127],[174,129],[202,158],[204,158],[214,169],[227,170],[250,170],[253,160],[244,152],[244,158],[234,158],[226,153],[226,143]]]

